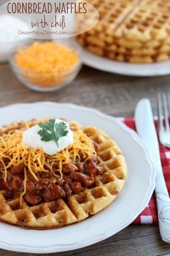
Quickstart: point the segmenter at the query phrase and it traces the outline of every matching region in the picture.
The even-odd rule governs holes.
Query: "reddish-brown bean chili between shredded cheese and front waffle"
[[[97,145],[95,145],[97,149]],[[81,192],[86,187],[95,185],[95,176],[102,174],[99,158],[91,157],[87,161],[77,161],[76,168],[63,165],[63,177],[57,178],[51,171],[38,172],[38,180],[35,181],[31,174],[27,174],[26,193],[24,200],[29,205],[37,205],[40,202],[48,202],[61,197],[68,197]],[[55,165],[53,171],[57,171]],[[56,172],[55,172],[56,174]],[[8,171],[6,181],[1,174],[0,189],[12,192],[22,192],[24,181],[24,164],[13,166]]]

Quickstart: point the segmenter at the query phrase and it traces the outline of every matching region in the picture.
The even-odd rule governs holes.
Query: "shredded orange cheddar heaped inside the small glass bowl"
[[[42,87],[55,86],[66,80],[78,61],[75,51],[53,41],[35,42],[20,49],[14,57],[24,79]]]

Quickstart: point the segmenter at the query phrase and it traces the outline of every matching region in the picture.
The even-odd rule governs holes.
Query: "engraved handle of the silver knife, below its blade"
[[[156,204],[158,209],[158,226],[161,238],[166,243],[170,243],[170,199],[166,188],[164,174],[161,166],[157,166],[156,175]]]

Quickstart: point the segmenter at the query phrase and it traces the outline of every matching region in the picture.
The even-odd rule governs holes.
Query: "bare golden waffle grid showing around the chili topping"
[[[76,125],[74,123],[74,125]],[[98,155],[104,173],[95,177],[95,187],[66,199],[42,202],[30,207],[19,197],[0,191],[0,220],[27,229],[53,229],[76,223],[109,205],[122,189],[126,176],[125,158],[115,142],[94,127],[82,128],[99,145]]]

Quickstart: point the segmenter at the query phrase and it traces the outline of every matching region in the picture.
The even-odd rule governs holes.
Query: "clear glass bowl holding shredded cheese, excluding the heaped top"
[[[63,43],[63,45],[66,44]],[[12,70],[14,71],[14,74],[16,74],[18,80],[27,88],[39,92],[59,90],[76,78],[82,65],[80,49],[77,48],[76,45],[73,46],[73,44],[68,47],[79,56],[79,61],[73,67],[56,72],[35,72],[31,69],[24,69],[19,67],[14,61],[14,57],[17,54],[17,51],[15,51],[10,59]]]

